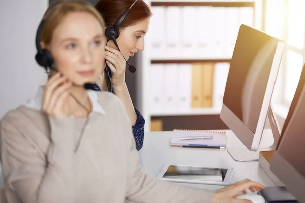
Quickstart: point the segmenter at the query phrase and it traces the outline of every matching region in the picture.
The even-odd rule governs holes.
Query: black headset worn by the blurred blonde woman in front
[[[36,39],[35,39],[35,44],[36,44],[36,49],[37,53],[35,55],[35,60],[36,62],[45,68],[46,72],[48,73],[48,68],[54,71],[57,71],[53,67],[54,59],[52,57],[52,54],[49,50],[47,49],[42,49],[40,46],[40,36],[41,36],[41,31],[43,28],[43,25],[45,24],[45,20],[43,19],[38,26],[37,32],[36,32]],[[84,84],[85,89],[94,89],[94,84],[92,83],[85,83]]]

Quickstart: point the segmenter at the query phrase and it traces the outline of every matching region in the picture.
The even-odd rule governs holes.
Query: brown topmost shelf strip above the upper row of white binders
[[[233,2],[217,2],[217,1],[210,1],[210,2],[182,2],[182,1],[176,1],[176,2],[159,2],[154,1],[151,2],[151,6],[213,6],[213,7],[255,7],[255,2],[253,1],[233,1]]]

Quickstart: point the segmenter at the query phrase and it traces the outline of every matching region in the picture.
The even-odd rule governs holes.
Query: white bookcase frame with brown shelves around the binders
[[[146,0],[145,1],[151,9],[153,9],[153,17],[156,15],[154,13],[154,8],[169,8],[169,7],[178,7],[178,8],[184,8],[184,7],[196,7],[196,8],[242,8],[242,7],[248,7],[253,9],[253,21],[252,26],[261,29],[262,26],[262,0],[256,0],[256,1],[158,1],[158,0]],[[210,13],[212,14],[212,13]],[[165,14],[166,16],[166,14]],[[183,17],[182,17],[183,18]],[[183,19],[180,19],[183,21]],[[210,20],[210,19],[206,19]],[[151,20],[152,21],[152,20]],[[166,19],[164,19],[166,21]],[[204,19],[202,19],[204,21]],[[146,123],[145,123],[145,131],[150,131],[150,124],[151,120],[154,118],[162,119],[165,118],[171,118],[175,117],[175,119],[181,118],[180,120],[185,120],[187,117],[195,116],[196,118],[199,118],[200,116],[216,116],[220,114],[221,106],[217,105],[212,107],[205,107],[205,108],[163,108],[162,110],[156,110],[152,108],[153,101],[152,101],[152,84],[156,80],[160,80],[160,75],[154,75],[152,74],[152,70],[156,67],[156,65],[168,65],[168,64],[198,64],[198,63],[209,63],[209,64],[219,64],[219,63],[229,63],[231,55],[230,54],[223,54],[223,55],[209,55],[209,54],[200,54],[199,55],[170,55],[170,54],[161,54],[157,56],[156,50],[154,50],[154,38],[156,33],[152,29],[154,29],[152,25],[152,22],[150,23],[150,28],[145,36],[145,50],[139,54],[137,58],[137,66],[140,67],[137,69],[137,104],[138,108],[140,109]],[[196,26],[200,26],[196,25]],[[239,27],[238,27],[239,28]],[[162,30],[161,30],[162,31]],[[238,32],[238,30],[237,30]],[[198,34],[198,33],[197,33]],[[182,34],[181,34],[182,35]],[[235,36],[235,40],[237,37],[237,33]],[[165,44],[168,42],[165,42]],[[162,44],[163,46],[164,44]],[[159,46],[159,45],[158,45]],[[181,45],[182,46],[182,45]],[[182,47],[183,48],[183,47]],[[180,49],[182,50],[182,49]],[[169,52],[168,52],[169,53]],[[160,67],[159,67],[160,69]],[[220,72],[220,71],[218,71]],[[160,77],[158,77],[160,76]],[[214,78],[218,75],[216,72],[214,73]],[[165,83],[164,83],[165,84]],[[154,85],[153,85],[154,86]],[[162,88],[166,88],[166,85],[163,85]],[[215,84],[212,85],[213,91],[215,89]],[[214,92],[213,92],[214,93]],[[221,103],[221,102],[219,102]],[[198,117],[199,116],[199,117]],[[179,118],[178,118],[179,117]],[[182,119],[183,118],[183,119]],[[205,119],[204,119],[205,120]]]

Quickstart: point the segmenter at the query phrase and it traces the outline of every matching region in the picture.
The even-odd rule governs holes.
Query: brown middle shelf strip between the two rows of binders
[[[210,59],[152,59],[151,64],[158,63],[229,63],[229,58],[210,58]]]

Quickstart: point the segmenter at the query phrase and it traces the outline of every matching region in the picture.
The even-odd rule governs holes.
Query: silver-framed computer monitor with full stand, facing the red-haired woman
[[[258,161],[267,116],[278,140],[280,128],[270,105],[283,48],[283,41],[247,25],[240,26],[220,113],[222,121],[247,147],[228,147],[236,161]]]

